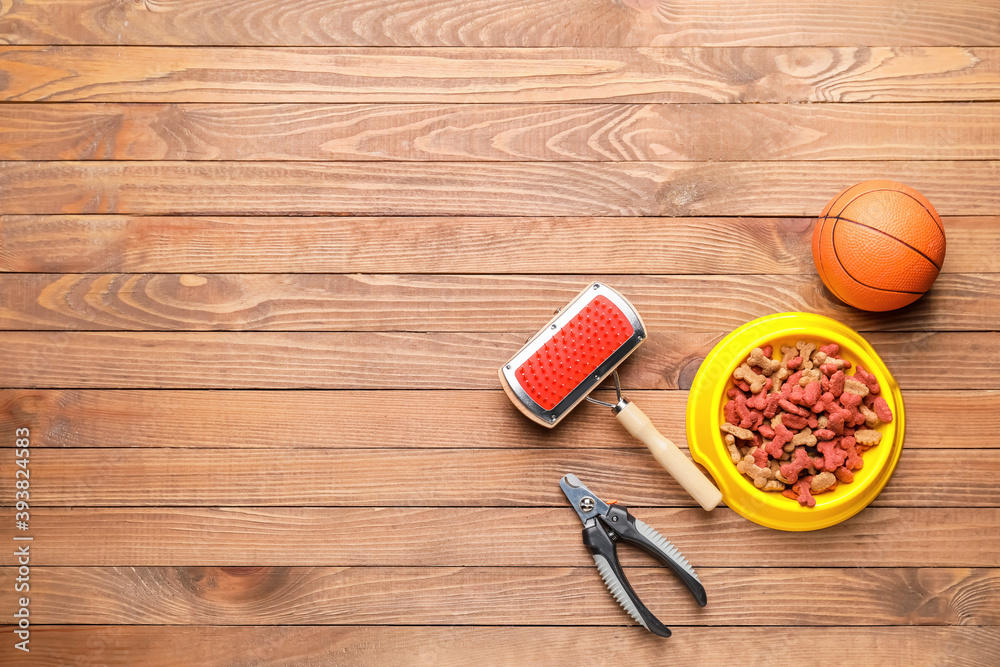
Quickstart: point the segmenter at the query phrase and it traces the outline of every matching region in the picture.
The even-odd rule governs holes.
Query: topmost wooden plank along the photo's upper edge
[[[949,0],[708,2],[567,0],[20,0],[0,13],[10,44],[191,46],[996,45],[1000,11]]]

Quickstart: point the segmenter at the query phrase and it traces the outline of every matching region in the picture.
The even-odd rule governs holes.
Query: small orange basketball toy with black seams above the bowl
[[[923,195],[895,181],[865,181],[834,197],[813,230],[813,260],[838,299],[893,310],[931,288],[944,261],[944,227]]]

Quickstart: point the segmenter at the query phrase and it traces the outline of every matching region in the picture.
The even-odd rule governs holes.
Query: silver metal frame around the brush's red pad
[[[556,332],[560,331],[564,326],[569,324],[577,314],[580,313],[591,301],[593,301],[598,296],[604,296],[611,303],[613,303],[628,319],[629,324],[632,325],[632,335],[618,346],[614,352],[605,359],[601,365],[599,365],[594,372],[588,376],[586,380],[577,385],[573,391],[571,391],[563,400],[552,408],[551,410],[546,410],[542,406],[532,399],[524,388],[521,387],[521,383],[515,376],[515,371],[521,367],[525,361],[530,359],[535,352],[540,350],[542,346],[547,343]],[[646,329],[642,325],[642,320],[639,319],[639,313],[635,311],[625,298],[616,292],[615,290],[602,285],[601,283],[594,283],[587,290],[580,294],[576,299],[574,299],[568,306],[566,306],[554,320],[548,323],[544,329],[535,334],[534,338],[528,341],[514,357],[507,362],[503,367],[503,376],[507,380],[507,384],[510,386],[511,391],[517,396],[521,404],[529,410],[533,415],[538,417],[540,420],[545,422],[549,426],[555,426],[558,424],[563,417],[565,417],[570,410],[576,407],[576,405],[587,397],[587,394],[596,389],[607,376],[618,367],[618,365],[625,361],[628,355],[632,354],[637,347],[646,339]]]

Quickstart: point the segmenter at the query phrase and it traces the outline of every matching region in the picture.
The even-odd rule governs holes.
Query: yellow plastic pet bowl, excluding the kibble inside
[[[780,492],[762,491],[736,470],[726,451],[723,433],[723,406],[727,390],[734,386],[733,371],[746,361],[755,347],[774,345],[780,358],[782,345],[807,340],[817,345],[837,343],[840,356],[874,373],[881,396],[892,410],[893,420],[881,424],[882,441],[863,454],[864,466],[855,471],[854,481],[840,484],[836,491],[816,495],[815,507],[802,507]],[[715,479],[722,497],[737,514],[777,530],[818,530],[848,519],[875,500],[885,488],[903,451],[903,396],[899,385],[872,346],[858,332],[836,320],[810,313],[778,313],[753,320],[726,336],[705,358],[695,375],[688,396],[687,436],[691,456]]]

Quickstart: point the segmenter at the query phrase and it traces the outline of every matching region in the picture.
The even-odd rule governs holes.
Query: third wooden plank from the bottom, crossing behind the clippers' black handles
[[[662,530],[695,567],[1000,564],[997,508],[869,507],[811,533],[763,528],[728,509],[633,507],[632,512]],[[33,508],[31,535],[33,568],[592,563],[580,539],[580,521],[568,506]],[[15,564],[13,553],[0,551],[0,565]],[[641,553],[634,562],[654,564]]]

